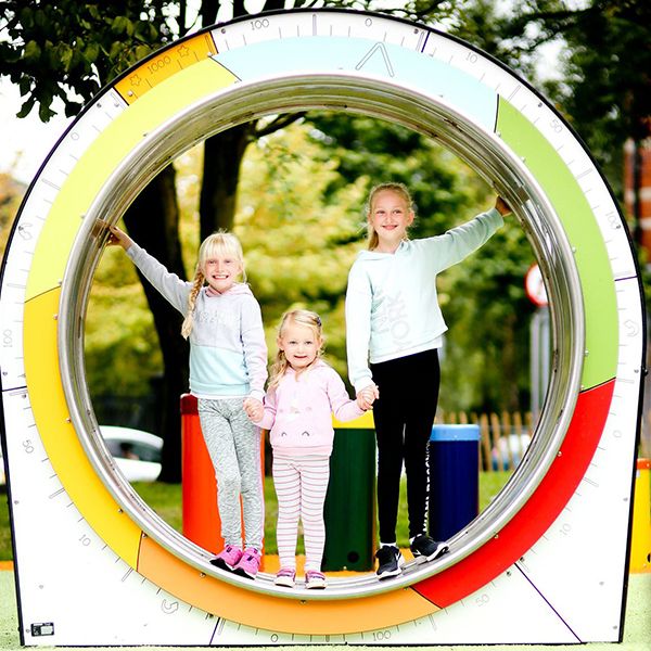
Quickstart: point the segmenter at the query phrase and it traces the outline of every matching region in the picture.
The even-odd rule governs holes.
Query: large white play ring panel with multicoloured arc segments
[[[493,186],[540,265],[553,348],[527,455],[450,552],[388,582],[363,574],[317,592],[216,570],[162,521],[116,472],[84,374],[86,307],[107,238],[98,220],[116,222],[161,169],[205,138],[312,108],[419,131]],[[104,89],[53,149],[14,225],[1,289],[24,643],[620,638],[644,349],[635,255],[578,138],[525,81],[472,46],[342,10],[260,14],[171,43]],[[604,532],[598,521],[615,524]],[[65,573],[35,560],[42,529]],[[609,587],[596,590],[595,582]],[[37,587],[63,583],[76,588],[75,608]],[[89,590],[108,595],[119,634],[90,613]],[[516,621],[507,623],[505,609]],[[34,626],[50,621],[53,637]]]

